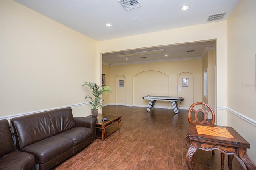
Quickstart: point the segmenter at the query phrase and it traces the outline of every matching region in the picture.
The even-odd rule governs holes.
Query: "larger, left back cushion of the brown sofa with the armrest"
[[[14,129],[18,149],[54,135],[51,120],[46,112],[15,117],[10,123]]]

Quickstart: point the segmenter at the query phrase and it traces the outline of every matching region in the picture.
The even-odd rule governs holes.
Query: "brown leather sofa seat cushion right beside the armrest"
[[[92,137],[92,129],[86,127],[75,127],[56,136],[62,136],[66,138],[70,138],[74,142],[74,146],[80,144],[88,138]]]

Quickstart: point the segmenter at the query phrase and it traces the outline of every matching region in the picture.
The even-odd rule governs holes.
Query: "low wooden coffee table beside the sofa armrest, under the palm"
[[[120,129],[121,117],[122,116],[98,114],[96,121],[96,138],[104,140],[107,136]],[[108,121],[103,121],[102,118],[108,118]]]

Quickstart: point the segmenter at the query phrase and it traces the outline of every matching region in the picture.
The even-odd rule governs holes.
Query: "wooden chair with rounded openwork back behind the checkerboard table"
[[[206,110],[204,110],[204,109],[197,109],[197,110],[195,110],[194,107],[196,105],[205,106],[205,107],[207,107],[207,109]],[[209,113],[209,112],[212,114],[212,121],[210,121],[210,122],[207,120],[207,116],[208,116],[207,113]],[[202,115],[200,113],[203,114],[203,119],[201,117],[198,117],[199,115]],[[212,110],[212,108],[208,104],[203,103],[203,102],[197,102],[197,103],[192,104],[190,106],[190,108],[188,109],[188,121],[189,121],[189,123],[194,123],[194,124],[214,125],[215,114],[214,114],[214,111]],[[188,135],[189,135],[189,133],[188,133]],[[186,136],[187,148],[190,147],[190,140],[188,138],[188,135]],[[215,154],[214,150],[212,150],[212,154]],[[220,157],[221,157],[221,168],[224,169],[225,154],[221,153]],[[192,158],[192,161],[193,161],[193,158]]]

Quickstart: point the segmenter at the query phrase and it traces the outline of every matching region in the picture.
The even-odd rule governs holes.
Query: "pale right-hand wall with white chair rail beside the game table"
[[[240,1],[228,18],[227,125],[232,126],[250,143],[247,153],[254,164],[256,163],[255,30],[256,1]]]

